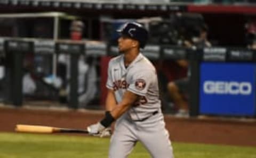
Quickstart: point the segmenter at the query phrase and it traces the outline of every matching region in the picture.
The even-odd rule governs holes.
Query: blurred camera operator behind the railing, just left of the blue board
[[[211,43],[207,40],[208,28],[203,24],[198,28],[198,37],[192,37],[191,40],[185,40],[183,45],[186,48],[203,49],[204,47],[211,47]],[[171,81],[167,84],[167,91],[171,96],[175,108],[177,108],[177,117],[189,117],[188,106],[188,90],[190,80],[189,61],[186,59],[177,60],[177,64],[182,68],[187,68],[187,76],[179,80]]]

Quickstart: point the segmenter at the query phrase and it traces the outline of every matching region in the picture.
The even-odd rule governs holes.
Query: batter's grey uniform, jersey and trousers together
[[[116,101],[122,101],[125,91],[138,94],[139,100],[124,113],[115,125],[109,157],[124,158],[140,141],[152,157],[173,157],[169,133],[161,112],[155,67],[139,54],[125,68],[124,55],[110,60],[106,86],[115,91]]]

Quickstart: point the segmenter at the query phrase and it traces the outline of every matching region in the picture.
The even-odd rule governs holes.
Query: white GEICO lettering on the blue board
[[[225,82],[225,81],[205,81],[204,93],[207,94],[242,94],[249,95],[252,92],[250,82]]]

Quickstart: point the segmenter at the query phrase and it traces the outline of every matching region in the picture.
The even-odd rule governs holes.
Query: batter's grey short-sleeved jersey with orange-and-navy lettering
[[[124,55],[111,59],[106,86],[115,91],[118,103],[122,101],[125,91],[139,95],[128,111],[132,120],[147,118],[161,107],[156,69],[141,53],[127,68],[124,66]]]

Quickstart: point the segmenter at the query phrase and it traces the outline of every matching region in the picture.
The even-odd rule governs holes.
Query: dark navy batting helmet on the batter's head
[[[143,25],[137,22],[127,22],[121,27],[121,29],[116,31],[122,35],[139,41],[140,48],[144,48],[147,43],[148,31],[143,27]]]

